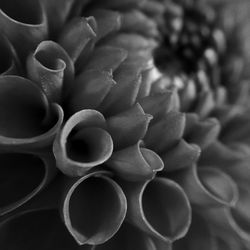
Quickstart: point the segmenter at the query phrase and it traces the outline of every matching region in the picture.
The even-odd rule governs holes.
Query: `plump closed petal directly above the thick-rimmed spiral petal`
[[[110,72],[88,70],[76,77],[68,100],[68,110],[74,114],[83,109],[98,109],[116,84]]]

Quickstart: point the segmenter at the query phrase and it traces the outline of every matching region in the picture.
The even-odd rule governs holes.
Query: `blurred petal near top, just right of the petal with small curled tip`
[[[104,9],[94,9],[88,14],[94,16],[96,19],[98,26],[97,41],[120,29],[121,15],[119,12]]]

